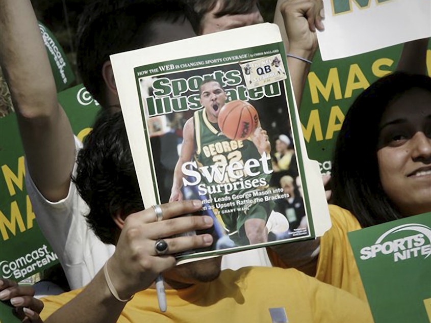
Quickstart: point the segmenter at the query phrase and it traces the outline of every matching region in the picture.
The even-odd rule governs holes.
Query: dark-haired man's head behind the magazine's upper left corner
[[[109,56],[193,37],[196,18],[180,0],[96,0],[84,10],[77,32],[82,81],[103,106],[119,106]]]

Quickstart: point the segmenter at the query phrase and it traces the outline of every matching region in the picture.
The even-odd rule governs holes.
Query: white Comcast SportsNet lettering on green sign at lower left
[[[54,252],[49,252],[47,246],[29,252],[12,261],[0,262],[0,277],[14,279],[23,279],[27,274],[37,272],[38,268],[56,261],[58,259]]]

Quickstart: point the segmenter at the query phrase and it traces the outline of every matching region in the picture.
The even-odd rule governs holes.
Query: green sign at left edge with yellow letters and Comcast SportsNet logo
[[[36,225],[24,185],[24,156],[14,114],[0,119],[0,276],[22,280],[56,263]]]

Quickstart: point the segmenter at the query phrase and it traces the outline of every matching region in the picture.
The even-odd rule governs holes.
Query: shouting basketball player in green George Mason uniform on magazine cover
[[[196,111],[194,116],[187,120],[184,125],[184,139],[180,157],[174,170],[169,202],[183,199],[181,192],[183,186],[182,166],[184,163],[190,162],[192,157],[198,165],[205,166],[215,165],[216,163],[229,164],[230,162],[241,162],[241,160],[245,162],[249,158],[260,159],[263,153],[266,153],[267,157],[270,158],[271,146],[268,141],[268,135],[260,127],[260,124],[251,136],[243,141],[233,141],[221,133],[217,120],[221,107],[226,101],[226,93],[215,79],[204,80],[200,85],[199,92],[200,103],[204,106],[204,109]],[[232,144],[232,142],[234,143]],[[220,153],[220,151],[211,149],[211,146],[216,143],[222,143],[219,147],[223,147],[223,152]],[[204,153],[204,150],[207,151],[207,154]],[[212,151],[212,153],[210,154],[208,151]],[[270,159],[268,159],[269,169],[271,169],[270,164]],[[256,176],[256,178],[269,176],[263,172],[262,174]],[[202,178],[205,178],[205,176],[202,176]],[[269,178],[267,178],[268,181]],[[238,195],[252,190],[235,191],[232,194]],[[222,196],[224,197],[225,195],[218,195],[218,197]],[[212,194],[211,197],[217,197],[217,194]],[[265,243],[268,240],[268,231],[265,225],[272,211],[272,206],[271,202],[263,202],[248,205],[244,211],[236,210],[232,213],[221,214],[225,228],[237,245]]]

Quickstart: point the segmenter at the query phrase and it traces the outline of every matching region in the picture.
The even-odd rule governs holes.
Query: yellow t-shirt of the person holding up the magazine
[[[46,319],[80,290],[43,299]],[[289,323],[372,322],[368,306],[353,295],[298,272],[271,267],[225,270],[210,283],[166,290],[167,311],[161,313],[154,289],[135,295],[120,323],[271,323],[270,308],[282,308]],[[97,308],[94,308],[96,311]]]

